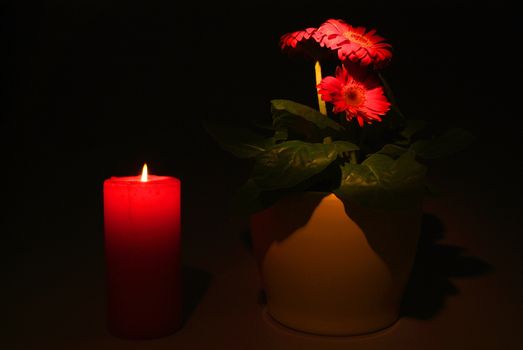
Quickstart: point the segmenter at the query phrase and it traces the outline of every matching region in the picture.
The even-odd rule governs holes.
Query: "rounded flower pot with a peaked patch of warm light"
[[[377,210],[319,192],[256,213],[250,226],[268,313],[287,327],[322,335],[392,325],[421,214],[421,201],[408,210]]]

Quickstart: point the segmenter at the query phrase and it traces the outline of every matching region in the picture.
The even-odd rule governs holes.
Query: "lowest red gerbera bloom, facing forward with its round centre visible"
[[[345,112],[347,120],[356,118],[360,126],[381,121],[390,109],[376,77],[356,65],[337,67],[336,76],[325,77],[318,88],[322,99],[334,105],[333,112]]]

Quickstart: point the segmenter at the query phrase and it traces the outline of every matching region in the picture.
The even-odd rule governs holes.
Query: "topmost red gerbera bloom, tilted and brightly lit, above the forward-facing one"
[[[365,27],[353,27],[342,20],[329,19],[314,33],[321,46],[338,50],[340,60],[363,66],[382,66],[392,58],[391,45]]]

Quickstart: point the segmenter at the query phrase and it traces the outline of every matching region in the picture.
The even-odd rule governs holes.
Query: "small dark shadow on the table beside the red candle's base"
[[[184,265],[182,268],[183,324],[200,304],[211,285],[212,275],[208,271]]]

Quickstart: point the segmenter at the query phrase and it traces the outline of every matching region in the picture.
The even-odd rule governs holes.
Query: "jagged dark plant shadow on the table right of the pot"
[[[401,316],[418,319],[435,317],[445,299],[459,294],[452,278],[484,275],[492,266],[480,258],[464,255],[464,248],[439,243],[445,228],[432,214],[423,214],[418,250],[401,305]]]

